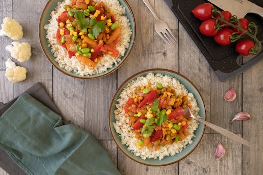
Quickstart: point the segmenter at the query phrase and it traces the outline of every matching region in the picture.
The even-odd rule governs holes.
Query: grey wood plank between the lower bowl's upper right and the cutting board
[[[211,116],[212,68],[181,23],[179,24],[179,47],[180,74],[192,81],[201,93],[206,109],[206,120],[209,121]],[[206,127],[205,132],[207,130]]]

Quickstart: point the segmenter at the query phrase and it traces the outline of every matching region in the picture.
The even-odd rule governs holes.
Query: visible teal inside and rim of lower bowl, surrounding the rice
[[[182,160],[183,158],[185,158],[186,156],[188,156],[198,145],[198,143],[200,142],[203,133],[204,133],[204,129],[205,129],[205,125],[199,122],[199,126],[197,128],[197,130],[194,131],[194,135],[196,135],[196,137],[193,137],[193,143],[192,144],[187,144],[186,147],[178,154],[175,154],[173,156],[165,156],[162,160],[157,159],[146,159],[143,160],[138,156],[135,156],[131,151],[127,150],[127,146],[121,144],[121,138],[119,136],[118,133],[116,133],[114,127],[113,127],[113,122],[115,122],[115,115],[114,115],[114,110],[116,110],[116,106],[115,104],[117,104],[117,99],[119,98],[120,93],[123,91],[123,89],[126,87],[126,85],[128,83],[130,83],[132,80],[135,80],[137,77],[139,76],[146,76],[148,73],[153,73],[153,74],[157,74],[160,73],[162,75],[168,75],[171,76],[173,78],[176,78],[177,80],[180,81],[181,84],[183,84],[185,86],[185,88],[188,90],[188,92],[193,93],[197,104],[200,108],[199,111],[199,116],[201,117],[201,119],[205,120],[206,119],[206,111],[205,111],[205,106],[204,106],[204,101],[201,97],[200,92],[198,91],[198,89],[195,87],[195,85],[186,77],[180,75],[179,73],[176,73],[174,71],[171,70],[166,70],[166,69],[149,69],[149,70],[145,70],[142,72],[139,72],[133,76],[131,76],[130,78],[128,78],[125,82],[123,82],[123,84],[118,88],[118,90],[116,91],[111,105],[110,105],[110,110],[109,110],[109,126],[110,126],[110,130],[111,130],[111,134],[112,137],[115,141],[115,143],[117,144],[117,146],[119,147],[119,149],[121,149],[121,151],[128,156],[129,158],[131,158],[134,161],[137,161],[141,164],[145,164],[145,165],[149,165],[149,166],[165,166],[165,165],[169,165],[169,164],[173,164],[176,163],[180,160]]]

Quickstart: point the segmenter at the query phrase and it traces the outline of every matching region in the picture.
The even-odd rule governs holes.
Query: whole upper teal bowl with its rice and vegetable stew
[[[135,21],[125,0],[49,0],[39,38],[57,69],[76,78],[98,78],[127,59]]]

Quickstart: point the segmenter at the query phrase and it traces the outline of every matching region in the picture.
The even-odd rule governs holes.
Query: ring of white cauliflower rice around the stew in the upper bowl
[[[69,59],[67,50],[61,47],[56,39],[56,31],[58,28],[56,19],[65,11],[63,6],[65,4],[70,4],[71,1],[72,0],[65,0],[63,2],[58,2],[56,10],[52,11],[50,14],[51,19],[49,20],[49,24],[44,26],[44,29],[47,30],[46,38],[49,42],[48,46],[51,47],[51,51],[55,56],[55,61],[59,63],[61,68],[67,71],[73,71],[80,76],[99,74],[107,71],[108,68],[112,68],[114,64],[117,65],[117,63],[121,61],[121,57],[124,55],[126,49],[129,47],[130,37],[132,35],[129,19],[125,16],[125,8],[119,4],[118,0],[94,0],[96,3],[103,1],[104,4],[112,10],[113,14],[116,16],[116,20],[119,21],[119,26],[122,31],[119,36],[118,44],[116,45],[119,56],[114,58],[109,54],[104,54],[102,60],[97,63],[96,67],[93,69],[84,65],[76,59],[75,56]]]

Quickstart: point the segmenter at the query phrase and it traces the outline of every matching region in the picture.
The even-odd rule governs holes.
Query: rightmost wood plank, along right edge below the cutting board
[[[251,115],[250,120],[243,121],[243,137],[253,144],[252,148],[243,146],[243,174],[263,174],[262,66],[263,61],[260,61],[243,73],[243,111]]]

